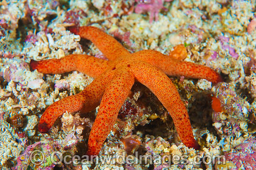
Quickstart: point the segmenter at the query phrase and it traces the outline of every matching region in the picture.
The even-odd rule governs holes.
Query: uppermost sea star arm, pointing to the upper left
[[[70,32],[80,35],[81,38],[89,39],[109,59],[114,60],[120,56],[130,55],[114,37],[104,33],[94,26],[70,27]]]

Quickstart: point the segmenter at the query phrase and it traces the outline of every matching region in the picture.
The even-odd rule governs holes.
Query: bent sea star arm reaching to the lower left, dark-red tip
[[[113,71],[94,79],[82,92],[63,98],[47,107],[46,111],[40,118],[38,130],[41,133],[46,133],[53,126],[57,118],[59,118],[65,111],[74,112],[88,112],[96,108],[101,101],[106,85],[111,82],[113,78]]]

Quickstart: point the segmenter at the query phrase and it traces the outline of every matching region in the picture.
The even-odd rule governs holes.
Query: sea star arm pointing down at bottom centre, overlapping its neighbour
[[[112,130],[118,112],[134,84],[134,76],[128,69],[117,70],[115,78],[106,87],[99,112],[88,139],[87,155],[98,155],[101,146]]]

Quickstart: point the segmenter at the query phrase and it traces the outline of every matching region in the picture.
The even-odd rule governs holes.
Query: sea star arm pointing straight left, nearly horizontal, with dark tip
[[[107,70],[108,61],[88,55],[71,54],[61,59],[31,60],[30,67],[44,74],[61,74],[77,70],[95,78]]]

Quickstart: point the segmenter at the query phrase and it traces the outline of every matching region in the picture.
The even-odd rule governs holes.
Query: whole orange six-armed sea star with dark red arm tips
[[[199,149],[195,141],[189,114],[169,76],[205,78],[221,82],[221,76],[207,66],[173,59],[154,50],[130,53],[116,39],[93,26],[71,27],[72,33],[89,39],[108,60],[71,54],[61,59],[30,61],[33,70],[45,74],[60,74],[77,70],[94,77],[82,92],[50,105],[40,118],[38,129],[47,132],[65,111],[88,112],[100,105],[88,139],[88,155],[98,155],[112,130],[118,112],[135,81],[147,86],[173,118],[183,144]],[[176,54],[177,52],[172,52]],[[167,75],[166,75],[167,74]]]

